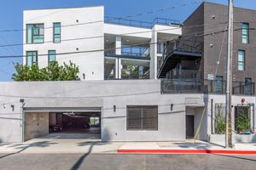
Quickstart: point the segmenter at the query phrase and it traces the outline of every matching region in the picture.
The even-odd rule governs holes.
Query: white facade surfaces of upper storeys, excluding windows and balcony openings
[[[53,24],[56,22],[61,23],[60,43],[53,42]],[[27,51],[37,51],[38,65],[42,68],[49,63],[48,51],[55,50],[55,59],[60,64],[71,60],[79,65],[81,80],[104,80],[104,76],[107,79],[104,70],[105,74],[106,72],[113,74],[112,79],[121,79],[123,65],[149,67],[150,78],[156,79],[157,56],[161,55],[157,54],[156,42],[168,41],[180,36],[180,26],[163,26],[157,22],[152,23],[152,27],[125,26],[115,23],[113,19],[104,22],[102,6],[26,10],[24,11],[23,54],[26,56]],[[30,24],[44,24],[43,43],[26,43],[26,25]],[[134,58],[133,52],[128,56],[127,53],[122,52],[124,46],[134,45],[148,48],[143,53],[147,53],[150,58],[143,59],[140,54],[139,57]],[[104,52],[109,48],[114,49],[112,53],[114,55],[106,57]],[[26,64],[26,57],[23,63]],[[106,66],[107,64],[113,64],[114,68],[111,65]]]

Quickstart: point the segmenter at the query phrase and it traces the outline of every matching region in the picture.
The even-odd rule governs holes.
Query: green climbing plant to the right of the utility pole
[[[251,119],[249,117],[247,110],[241,110],[241,112],[236,117],[236,131],[238,133],[250,131],[251,130]]]

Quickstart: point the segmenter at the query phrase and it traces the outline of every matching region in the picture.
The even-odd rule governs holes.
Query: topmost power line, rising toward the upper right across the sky
[[[126,16],[117,17],[117,18],[110,19],[110,20],[122,20],[122,19],[127,19],[127,18],[134,18],[134,17],[138,17],[138,16],[143,16],[144,14],[154,14],[154,13],[164,12],[166,10],[171,10],[171,9],[174,9],[174,8],[177,8],[177,7],[185,7],[185,6],[189,6],[191,4],[195,4],[195,3],[201,3],[201,1],[193,1],[191,3],[183,3],[183,4],[180,4],[180,5],[177,5],[177,6],[172,6],[172,7],[168,7],[168,8],[160,8],[160,9],[156,9],[156,10],[152,10],[152,11],[148,11],[148,12],[144,12],[144,13],[140,13],[140,14],[126,15]],[[33,20],[36,20],[36,19],[33,19]],[[61,26],[61,27],[83,26],[83,25],[87,25],[87,24],[95,24],[95,23],[100,23],[100,22],[104,22],[104,21],[105,20],[95,20],[95,21],[84,22],[84,23],[64,25],[64,26]],[[53,26],[44,27],[44,29],[50,29],[50,28],[53,28]],[[0,32],[13,32],[13,31],[26,31],[26,29],[5,29],[5,30],[0,30]]]

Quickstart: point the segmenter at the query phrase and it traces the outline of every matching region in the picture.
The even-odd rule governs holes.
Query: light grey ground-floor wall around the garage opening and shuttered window
[[[40,90],[38,90],[40,87]],[[89,82],[0,82],[0,104],[20,109],[44,107],[101,107],[103,141],[170,141],[185,139],[185,106],[191,99],[203,100],[202,94],[160,94],[159,80],[89,81]],[[189,99],[189,100],[188,100]],[[188,101],[187,101],[188,100]],[[190,103],[195,103],[192,100]],[[173,110],[171,111],[171,104]],[[116,111],[113,111],[116,105]],[[127,105],[158,105],[157,131],[126,130]],[[0,107],[3,114],[9,111]],[[21,110],[15,111],[17,118]],[[10,118],[11,116],[8,116]],[[20,119],[19,119],[20,120]],[[20,121],[0,119],[0,139],[19,142]],[[7,131],[3,130],[9,127]],[[15,135],[12,135],[14,134]],[[6,138],[5,136],[11,136]]]

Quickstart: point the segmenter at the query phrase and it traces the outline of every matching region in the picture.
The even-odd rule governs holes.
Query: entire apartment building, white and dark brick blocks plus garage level
[[[234,142],[255,142],[255,32],[247,26],[256,12],[235,9],[244,27],[234,35],[232,132]],[[94,137],[102,141],[224,142],[226,54],[218,56],[225,33],[217,23],[226,13],[202,3],[181,26],[106,18],[103,7],[26,10],[24,64],[71,60],[82,81],[0,82],[0,142],[49,135],[55,124],[84,132],[86,122],[97,122]],[[135,76],[129,67],[137,67]]]

